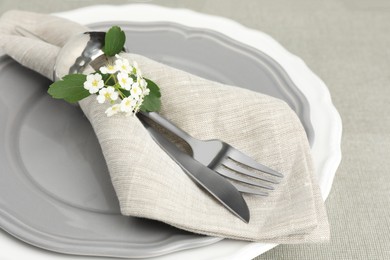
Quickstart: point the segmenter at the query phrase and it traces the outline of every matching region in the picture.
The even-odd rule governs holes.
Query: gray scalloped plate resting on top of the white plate
[[[118,25],[131,52],[285,100],[312,142],[306,99],[265,54],[214,31],[165,22]],[[98,141],[80,109],[50,98],[49,80],[4,56],[0,82],[7,93],[0,95],[1,228],[52,251],[132,258],[220,240],[121,216]]]

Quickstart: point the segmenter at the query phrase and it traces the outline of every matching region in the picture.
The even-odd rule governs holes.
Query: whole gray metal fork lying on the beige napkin
[[[278,184],[283,174],[240,152],[221,140],[199,140],[156,112],[139,112],[141,120],[150,119],[185,141],[192,150],[192,157],[218,174],[233,180],[232,184],[242,193],[267,196],[274,190],[270,184]],[[260,181],[259,181],[260,180]]]

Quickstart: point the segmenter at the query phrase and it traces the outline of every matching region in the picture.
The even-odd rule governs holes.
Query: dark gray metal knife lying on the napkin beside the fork
[[[245,223],[249,222],[250,213],[241,193],[224,177],[182,152],[161,133],[149,125],[143,118],[140,121],[154,141],[182,168],[182,170],[199,184],[223,206]]]

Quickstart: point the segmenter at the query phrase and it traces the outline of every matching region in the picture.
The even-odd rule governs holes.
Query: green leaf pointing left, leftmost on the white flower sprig
[[[64,99],[69,103],[75,103],[90,95],[84,88],[87,76],[83,74],[66,75],[61,80],[50,85],[47,91],[53,98]]]

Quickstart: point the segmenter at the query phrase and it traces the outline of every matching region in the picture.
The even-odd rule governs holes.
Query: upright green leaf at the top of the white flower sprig
[[[109,57],[120,53],[125,46],[126,35],[119,26],[113,26],[108,30],[104,38],[103,52]]]

